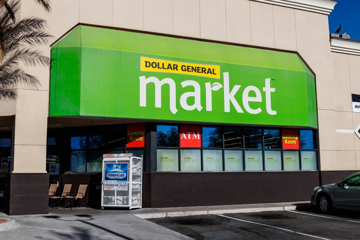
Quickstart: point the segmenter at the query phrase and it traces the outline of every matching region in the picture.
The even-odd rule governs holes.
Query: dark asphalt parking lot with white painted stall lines
[[[314,206],[298,210],[212,214],[149,219],[195,240],[359,239],[360,212],[336,209],[321,214]]]

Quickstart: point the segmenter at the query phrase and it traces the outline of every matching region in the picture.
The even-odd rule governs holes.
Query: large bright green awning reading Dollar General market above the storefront
[[[317,127],[296,54],[78,26],[51,59],[50,116]]]

